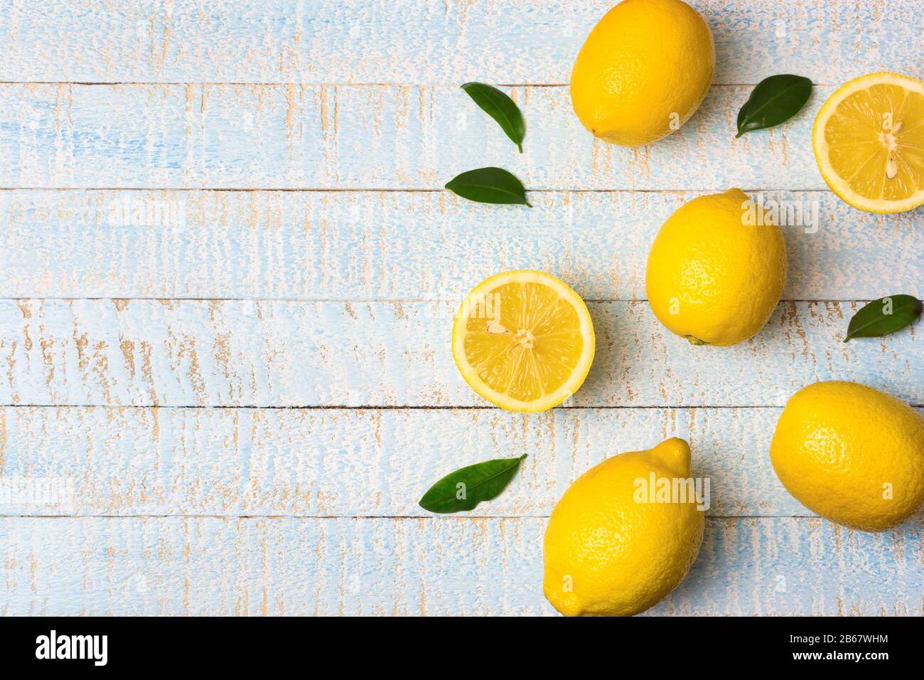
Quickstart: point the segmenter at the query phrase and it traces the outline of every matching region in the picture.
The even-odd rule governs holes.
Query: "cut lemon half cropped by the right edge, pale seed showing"
[[[924,204],[924,82],[899,73],[851,80],[821,106],[812,146],[821,177],[853,207]]]

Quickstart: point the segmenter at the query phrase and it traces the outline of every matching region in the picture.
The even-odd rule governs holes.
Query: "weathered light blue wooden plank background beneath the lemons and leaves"
[[[924,295],[921,211],[842,204],[809,140],[843,81],[924,77],[924,6],[693,5],[710,94],[627,150],[590,138],[566,86],[610,2],[0,3],[0,612],[552,613],[554,502],[679,435],[712,508],[652,613],[924,613],[924,521],[827,523],[767,455],[815,380],[924,407],[918,328],[841,342],[863,301]],[[816,83],[807,110],[735,140],[752,86],[785,72]],[[466,80],[508,88],[525,154]],[[440,190],[484,165],[536,208]],[[645,259],[679,204],[729,186],[817,204],[819,228],[785,229],[767,328],[691,348],[651,315]],[[516,267],[565,278],[598,333],[587,383],[545,414],[486,407],[449,351],[460,297]],[[521,453],[472,516],[416,504],[449,470]],[[43,481],[60,493],[21,491]]]

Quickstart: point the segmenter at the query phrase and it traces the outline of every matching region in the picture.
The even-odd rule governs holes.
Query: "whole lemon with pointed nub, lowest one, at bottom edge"
[[[692,489],[677,484],[668,502],[651,496],[650,484],[692,483],[689,474],[687,442],[667,439],[578,477],[545,530],[542,590],[553,607],[565,616],[631,616],[673,590],[699,553],[704,513]]]

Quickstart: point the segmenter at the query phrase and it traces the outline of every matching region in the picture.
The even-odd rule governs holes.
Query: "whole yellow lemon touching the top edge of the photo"
[[[680,0],[625,0],[592,31],[571,71],[571,104],[604,142],[640,146],[677,130],[712,80],[709,26]]]

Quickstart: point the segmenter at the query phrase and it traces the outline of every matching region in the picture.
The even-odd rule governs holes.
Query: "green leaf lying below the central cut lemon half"
[[[434,484],[420,499],[420,507],[431,513],[460,513],[474,510],[481,501],[491,501],[517,474],[519,458],[499,458],[468,465]]]

